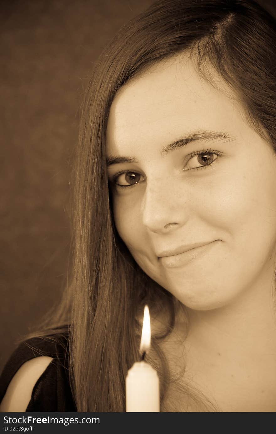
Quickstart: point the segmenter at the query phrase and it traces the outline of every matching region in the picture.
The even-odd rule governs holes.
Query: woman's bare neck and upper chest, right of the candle
[[[268,410],[276,398],[273,291],[270,280],[266,286],[255,285],[245,291],[228,306],[209,311],[187,309],[190,324],[181,348],[186,378],[192,379],[192,385],[200,385],[223,411],[276,410],[275,404]],[[176,346],[171,349],[177,345],[180,349],[184,333],[184,322],[177,316],[172,334]]]

